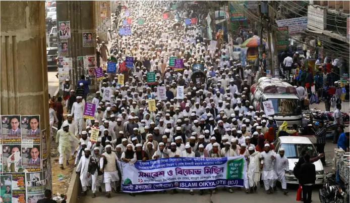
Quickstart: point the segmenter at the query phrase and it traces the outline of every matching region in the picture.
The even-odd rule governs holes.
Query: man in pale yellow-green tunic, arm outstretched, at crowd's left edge
[[[64,161],[64,156],[66,156],[66,165],[68,166],[69,163],[69,155],[71,152],[71,143],[70,143],[70,137],[73,138],[75,142],[79,142],[78,138],[73,135],[71,131],[69,131],[69,124],[65,123],[62,125],[63,129],[60,129],[57,131],[56,134],[56,143],[59,144],[59,153],[60,153],[60,159],[59,159],[59,164],[60,168],[64,169],[63,167],[63,161]]]

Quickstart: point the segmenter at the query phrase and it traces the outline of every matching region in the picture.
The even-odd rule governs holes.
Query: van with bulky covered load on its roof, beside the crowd
[[[263,102],[271,100],[274,119],[278,125],[283,121],[287,121],[288,126],[302,125],[303,115],[297,90],[286,82],[277,78],[262,77],[258,83],[251,86],[249,99],[255,111],[264,110]]]

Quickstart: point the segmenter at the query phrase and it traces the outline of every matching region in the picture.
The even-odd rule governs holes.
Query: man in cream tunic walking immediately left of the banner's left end
[[[130,147],[132,150],[132,146]],[[106,145],[105,149],[105,153],[101,155],[103,159],[100,159],[100,171],[103,173],[103,182],[105,183],[106,197],[109,198],[110,191],[112,190],[111,183],[115,187],[114,182],[119,181],[118,170],[116,170],[116,161],[118,161],[118,157],[112,151],[112,146],[110,144]]]

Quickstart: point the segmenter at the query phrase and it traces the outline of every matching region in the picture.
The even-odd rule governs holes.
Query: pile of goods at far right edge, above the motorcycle
[[[339,176],[344,183],[349,183],[350,176],[350,154],[342,149],[334,149],[333,168],[339,170]]]

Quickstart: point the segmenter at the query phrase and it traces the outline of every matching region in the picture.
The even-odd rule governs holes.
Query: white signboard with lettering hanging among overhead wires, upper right
[[[303,32],[308,26],[308,17],[289,18],[276,21],[278,27],[288,27],[288,33]]]

